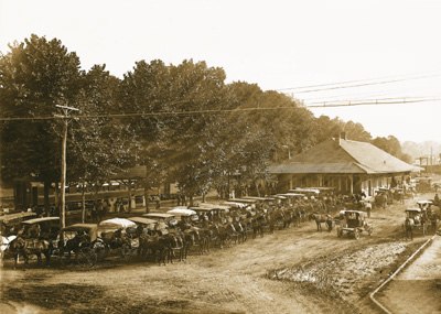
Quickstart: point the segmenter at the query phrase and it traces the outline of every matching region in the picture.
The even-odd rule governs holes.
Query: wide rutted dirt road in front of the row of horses
[[[359,240],[311,221],[165,267],[7,264],[1,302],[11,313],[375,313],[368,292],[423,240],[401,238],[405,206],[374,210],[374,234]]]

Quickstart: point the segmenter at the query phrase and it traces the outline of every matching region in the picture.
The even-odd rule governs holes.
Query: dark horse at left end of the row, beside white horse
[[[24,259],[24,263],[28,264],[30,255],[36,255],[39,264],[41,264],[42,262],[41,256],[44,255],[46,266],[50,266],[53,247],[52,243],[46,240],[25,239],[21,236],[18,236],[14,240],[10,242],[9,250],[14,258],[14,268],[17,268],[19,256],[22,256]]]

